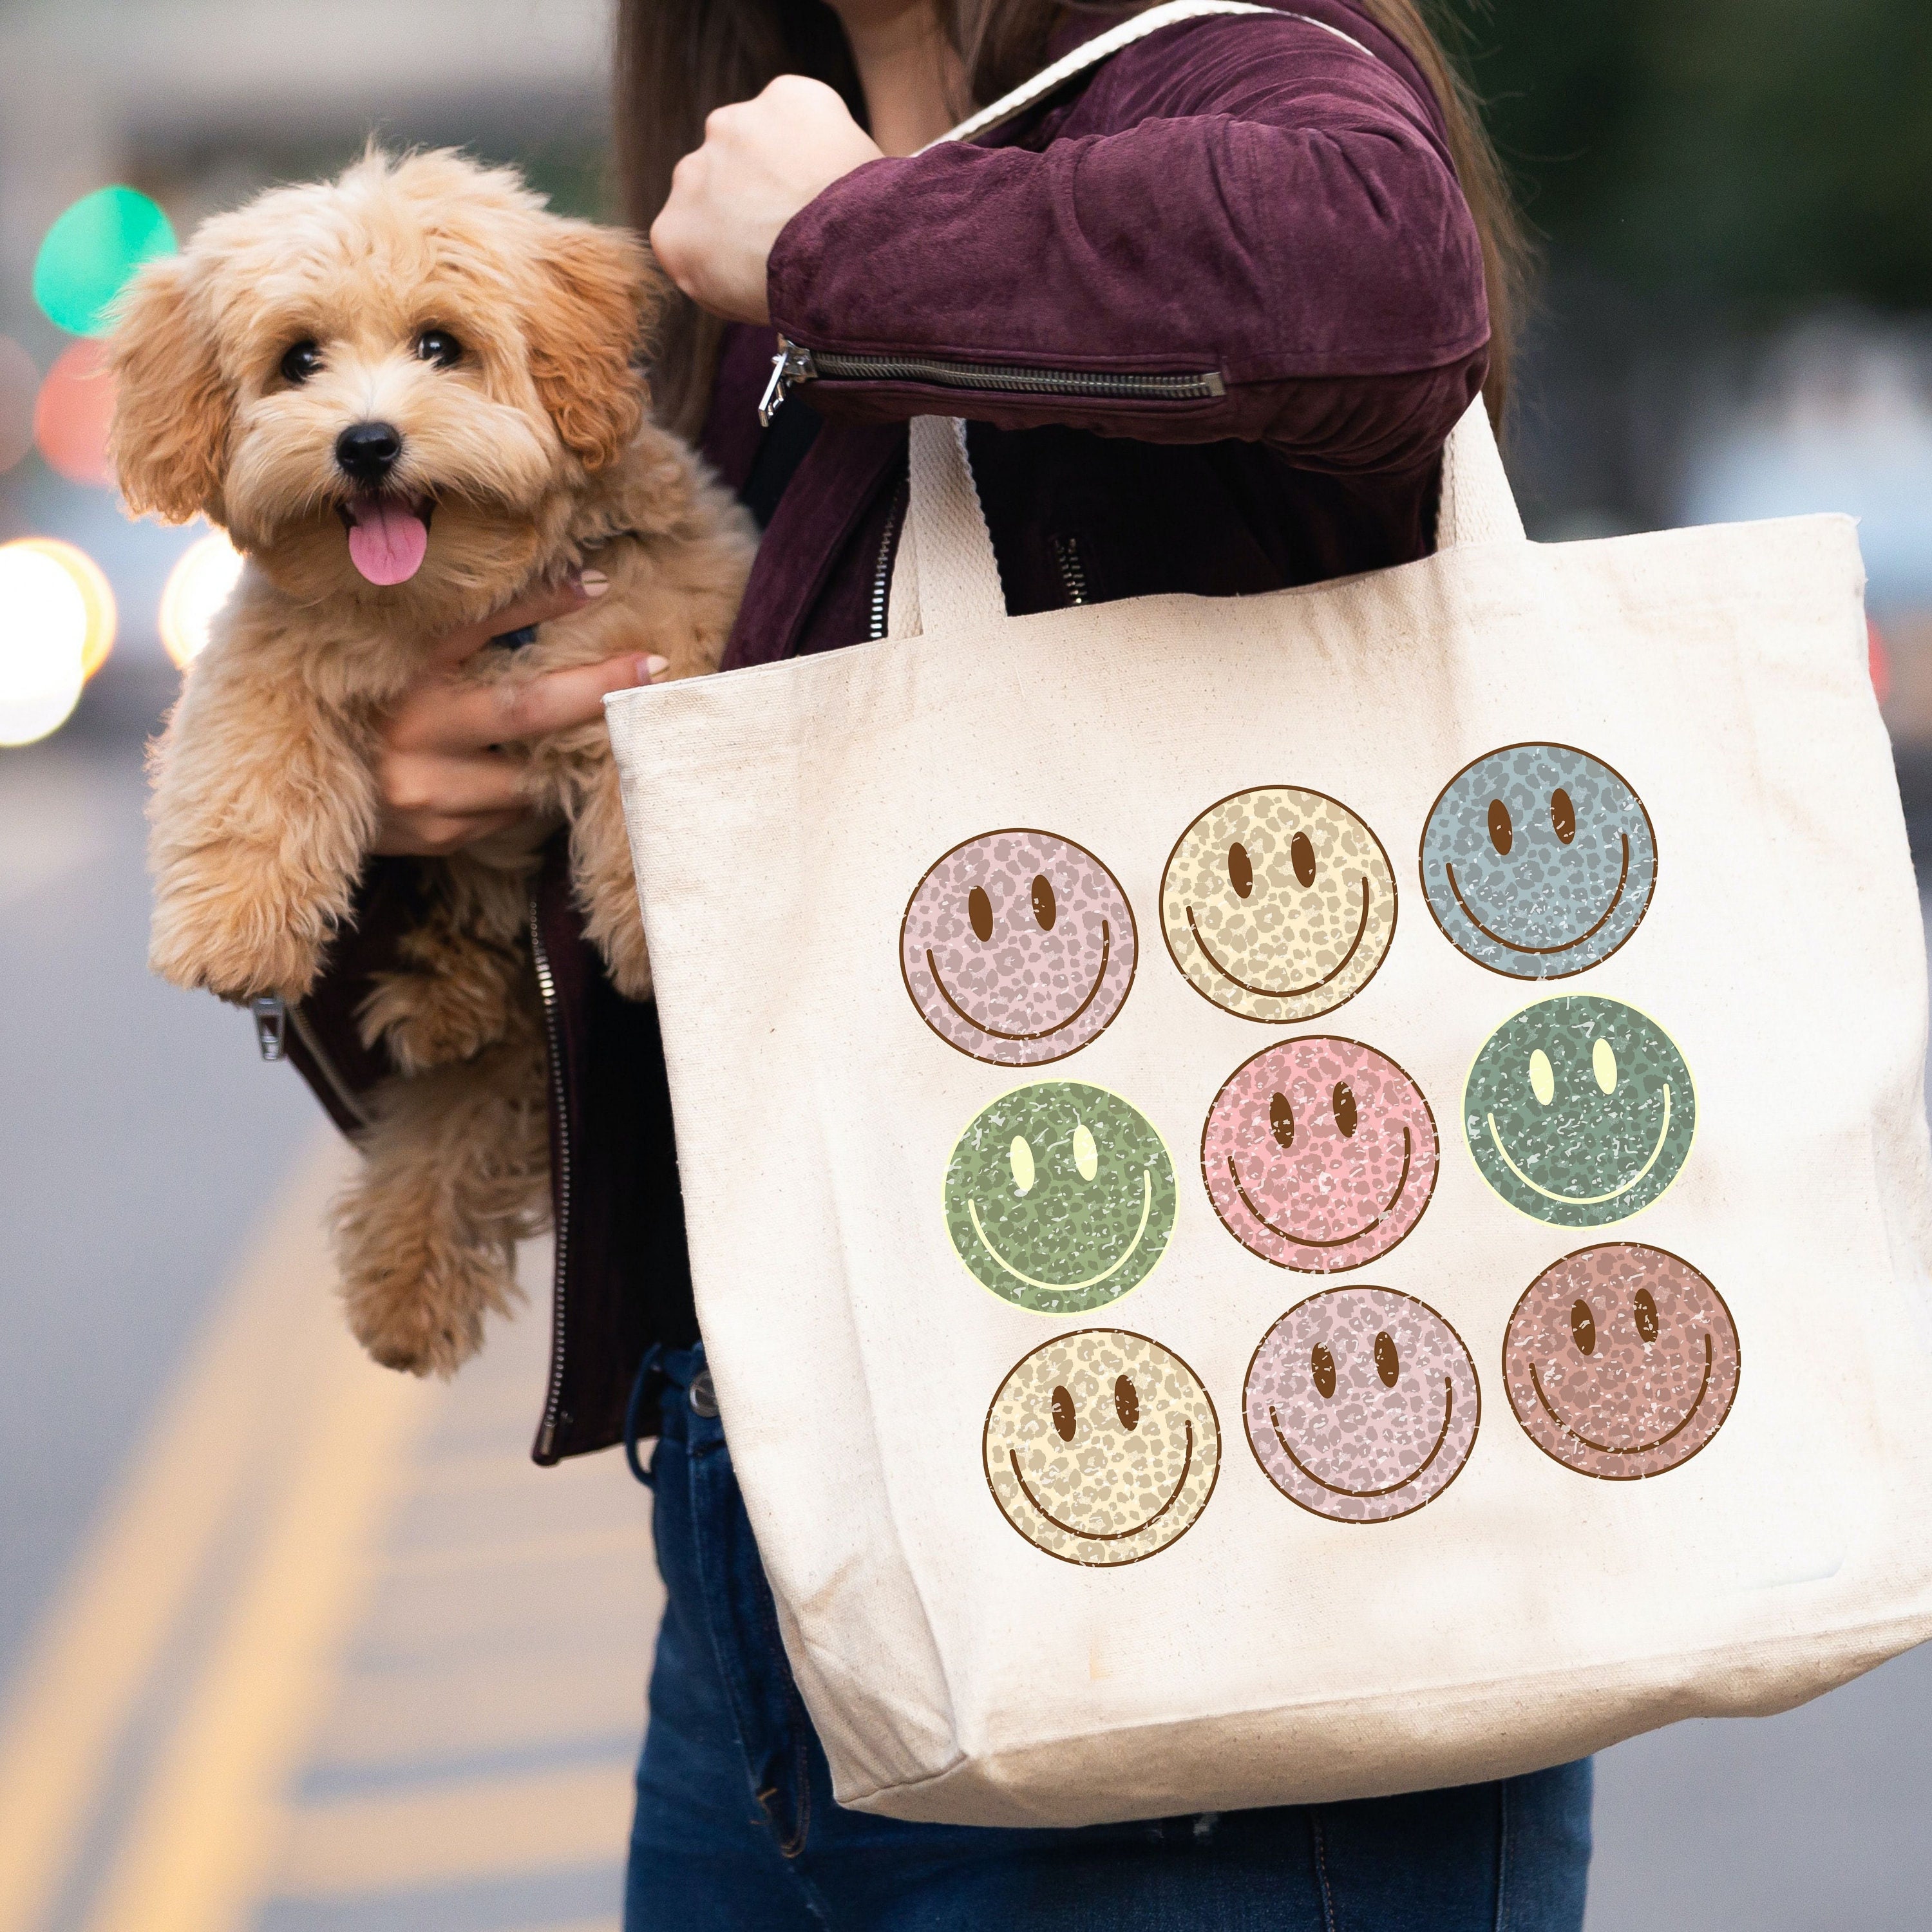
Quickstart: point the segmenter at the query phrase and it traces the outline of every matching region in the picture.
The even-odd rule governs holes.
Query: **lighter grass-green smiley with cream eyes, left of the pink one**
[[[1001,1300],[1105,1308],[1153,1273],[1175,1231],[1175,1163],[1138,1107],[1041,1080],[981,1109],[947,1167],[947,1233]]]

